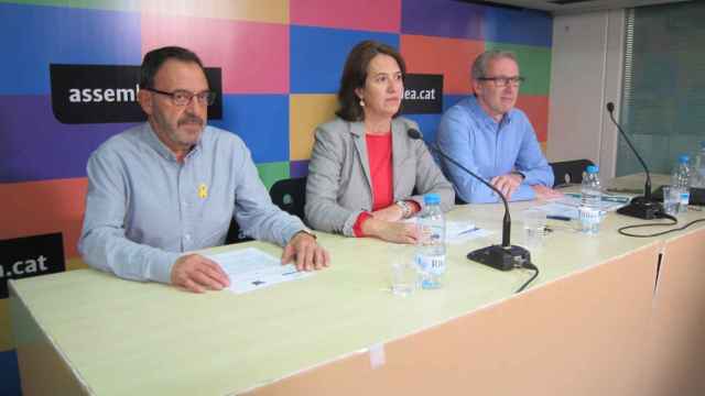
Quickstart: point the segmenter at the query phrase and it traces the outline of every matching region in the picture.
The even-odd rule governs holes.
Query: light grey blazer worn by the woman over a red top
[[[413,199],[423,208],[423,194],[437,193],[441,208],[454,205],[455,193],[421,140],[406,131],[419,129],[403,118],[392,120],[392,172],[394,201]],[[365,124],[336,118],[319,125],[306,184],[306,220],[313,228],[352,237],[352,226],[362,211],[372,210]],[[412,196],[416,187],[420,195]]]

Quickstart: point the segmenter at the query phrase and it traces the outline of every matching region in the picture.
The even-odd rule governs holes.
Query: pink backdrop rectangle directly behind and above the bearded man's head
[[[180,45],[223,68],[224,94],[289,92],[289,25],[142,15],[142,54]]]

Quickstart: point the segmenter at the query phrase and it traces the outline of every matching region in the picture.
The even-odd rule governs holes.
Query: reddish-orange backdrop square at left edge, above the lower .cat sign
[[[87,186],[85,177],[0,184],[0,239],[62,232],[64,254],[77,256]]]

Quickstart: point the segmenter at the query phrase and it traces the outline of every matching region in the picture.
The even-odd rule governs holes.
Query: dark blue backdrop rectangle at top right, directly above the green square
[[[550,47],[553,18],[542,11],[488,7],[482,23],[485,41]]]

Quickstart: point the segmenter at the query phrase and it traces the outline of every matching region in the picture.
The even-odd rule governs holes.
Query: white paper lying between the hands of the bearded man
[[[248,293],[313,275],[312,272],[296,271],[294,264],[281,265],[279,258],[257,248],[207,254],[206,257],[218,263],[223,271],[228,274],[230,278],[229,289],[236,294]]]

